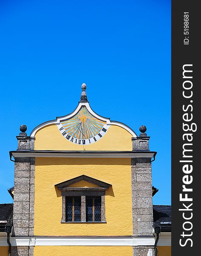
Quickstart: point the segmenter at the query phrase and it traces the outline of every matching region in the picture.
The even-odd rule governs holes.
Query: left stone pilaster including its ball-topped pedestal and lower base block
[[[21,127],[20,131],[23,130]],[[17,150],[33,150],[34,139],[34,137],[26,136],[26,132],[21,132],[17,136]],[[16,157],[14,163],[14,236],[34,236],[34,178],[35,158]],[[33,256],[33,247],[15,246],[12,249],[12,256],[15,255]]]

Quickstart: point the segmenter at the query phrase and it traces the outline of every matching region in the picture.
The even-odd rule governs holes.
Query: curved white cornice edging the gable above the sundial
[[[57,124],[57,125],[58,125],[58,124],[60,124],[61,121],[66,120],[66,119],[69,119],[69,118],[71,118],[72,116],[75,116],[75,114],[78,113],[78,111],[80,110],[81,106],[86,106],[87,110],[89,111],[90,114],[92,114],[92,116],[95,116],[96,118],[98,118],[98,119],[100,119],[100,120],[106,122],[107,125],[118,125],[118,126],[124,128],[124,129],[125,129],[126,131],[128,131],[130,134],[132,134],[132,137],[137,137],[137,134],[135,133],[135,131],[133,131],[131,128],[129,128],[129,126],[127,126],[127,125],[125,125],[125,124],[123,124],[123,123],[121,123],[121,122],[110,121],[109,118],[100,116],[100,115],[98,115],[97,113],[95,113],[95,112],[92,110],[92,108],[90,107],[89,102],[79,102],[77,108],[75,108],[75,110],[74,110],[72,113],[70,113],[70,114],[68,114],[68,115],[66,115],[66,116],[57,117],[57,119],[55,119],[55,120],[43,122],[42,124],[36,126],[36,127],[32,130],[32,132],[31,132],[31,134],[30,134],[30,137],[34,137],[35,134],[36,134],[36,132],[37,132],[38,130],[40,130],[41,128],[44,128],[44,127],[47,126],[47,125],[52,125],[52,124]]]

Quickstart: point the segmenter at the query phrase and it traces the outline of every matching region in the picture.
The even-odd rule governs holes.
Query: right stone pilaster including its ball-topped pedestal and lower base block
[[[140,128],[140,131],[142,133],[139,137],[132,138],[133,151],[141,151],[143,154],[149,152],[150,137],[144,133],[146,128]],[[151,158],[132,158],[131,177],[133,236],[153,236]],[[153,249],[153,246],[134,246],[133,256],[146,256],[149,249]]]

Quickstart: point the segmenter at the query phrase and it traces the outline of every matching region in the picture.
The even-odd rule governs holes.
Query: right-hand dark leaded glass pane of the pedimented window
[[[86,221],[101,221],[101,197],[86,197]]]

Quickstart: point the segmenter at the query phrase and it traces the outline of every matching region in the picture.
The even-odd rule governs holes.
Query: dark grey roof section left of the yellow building
[[[5,232],[6,227],[12,227],[13,204],[0,204],[0,221],[7,221],[7,223],[0,223],[0,232]]]

